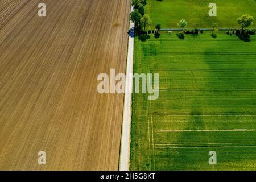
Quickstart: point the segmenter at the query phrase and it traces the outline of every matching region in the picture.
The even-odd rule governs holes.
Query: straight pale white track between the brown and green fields
[[[130,12],[133,11],[131,6]],[[134,24],[130,21],[130,28]],[[122,138],[120,152],[120,171],[128,171],[130,163],[130,137],[131,137],[131,99],[133,92],[133,78],[129,78],[130,73],[133,73],[133,55],[134,55],[134,38],[129,36],[128,53],[126,63],[126,80],[125,80],[125,101],[123,103],[123,123],[122,123]]]

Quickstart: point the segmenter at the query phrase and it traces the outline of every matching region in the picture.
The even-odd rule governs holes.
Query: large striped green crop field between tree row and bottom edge
[[[160,92],[133,94],[130,169],[255,170],[256,131],[233,131],[256,129],[255,50],[256,36],[135,38],[134,72],[159,73]]]

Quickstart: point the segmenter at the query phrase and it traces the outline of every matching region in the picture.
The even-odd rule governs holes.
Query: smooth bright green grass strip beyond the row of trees
[[[187,20],[187,28],[211,28],[217,23],[219,28],[239,28],[237,18],[242,14],[250,14],[256,20],[254,0],[216,0],[217,17],[209,17],[210,0],[148,0],[146,13],[152,20],[151,29],[156,23],[162,28],[178,28],[179,20]],[[255,22],[255,21],[254,21]],[[256,28],[256,23],[250,28]]]

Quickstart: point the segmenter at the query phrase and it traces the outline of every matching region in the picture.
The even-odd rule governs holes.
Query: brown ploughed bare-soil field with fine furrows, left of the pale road
[[[130,1],[39,2],[0,2],[0,169],[117,170],[123,95],[97,75],[125,73]]]

